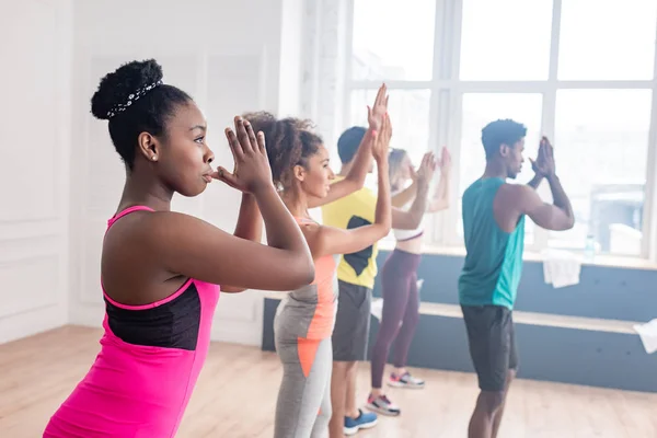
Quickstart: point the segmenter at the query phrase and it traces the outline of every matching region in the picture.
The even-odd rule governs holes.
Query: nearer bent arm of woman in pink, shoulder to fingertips
[[[235,117],[235,130],[237,135],[231,129],[226,132],[235,169],[229,173],[220,168],[215,177],[253,196],[265,222],[268,245],[231,235],[187,215],[158,212],[149,215],[146,226],[152,232],[141,233],[147,241],[140,246],[158,254],[171,273],[201,281],[265,290],[308,285],[314,278],[312,256],[276,193],[264,136],[258,132],[256,138],[241,117]]]

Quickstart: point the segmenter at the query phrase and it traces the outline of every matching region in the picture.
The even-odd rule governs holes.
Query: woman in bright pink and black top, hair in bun
[[[224,292],[299,288],[313,280],[312,256],[272,183],[264,137],[241,117],[226,130],[230,173],[212,170],[201,112],[162,83],[154,60],[103,78],[91,111],[110,120],[126,166],[102,250],[104,335],[43,436],[174,437],[208,353],[217,285]],[[234,234],[171,211],[174,193],[197,196],[212,180],[243,194]]]

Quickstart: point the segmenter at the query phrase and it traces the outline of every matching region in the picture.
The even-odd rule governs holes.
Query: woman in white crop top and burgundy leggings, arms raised
[[[435,212],[449,206],[449,177],[451,158],[446,148],[442,148],[440,160],[435,161],[433,153],[423,158],[418,173],[415,172],[411,159],[405,150],[393,149],[390,152],[390,185],[392,205],[407,209],[417,203],[416,195],[426,196],[426,180],[430,180],[436,165],[440,169],[440,180],[434,196],[422,204],[426,205],[425,212]],[[425,174],[422,174],[425,173]],[[423,182],[423,180],[425,180]],[[406,186],[408,182],[411,185]],[[418,187],[424,184],[418,191]],[[415,207],[420,208],[417,204]],[[412,207],[413,208],[413,207]],[[424,220],[423,220],[424,222]],[[394,227],[394,220],[393,220]],[[424,388],[424,381],[412,377],[406,371],[406,357],[415,327],[419,321],[419,291],[417,288],[417,267],[422,258],[422,241],[424,234],[423,223],[412,230],[393,229],[396,245],[381,269],[381,285],[383,296],[383,312],[377,341],[371,357],[371,385],[368,397],[369,410],[383,415],[396,416],[401,410],[395,406],[382,391],[383,369],[388,360],[388,353],[393,341],[394,371],[390,374],[388,384],[397,388]]]

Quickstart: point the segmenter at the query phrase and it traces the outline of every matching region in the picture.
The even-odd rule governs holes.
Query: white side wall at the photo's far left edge
[[[0,343],[65,324],[72,9],[0,3]]]

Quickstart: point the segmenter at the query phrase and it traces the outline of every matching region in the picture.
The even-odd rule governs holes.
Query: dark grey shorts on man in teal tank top
[[[504,391],[508,370],[518,369],[511,310],[500,306],[461,306],[470,356],[482,391]]]

